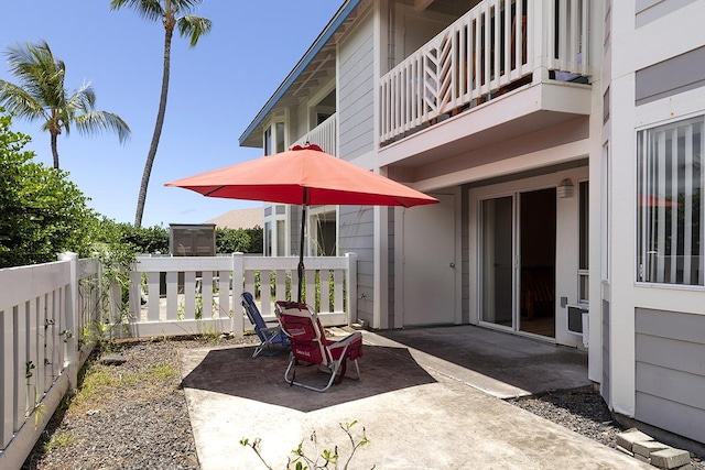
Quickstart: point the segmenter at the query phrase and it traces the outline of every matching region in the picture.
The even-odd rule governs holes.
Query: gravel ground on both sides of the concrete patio
[[[235,346],[245,339],[140,341],[94,353],[78,392],[52,417],[23,470],[198,470],[178,349]],[[110,354],[126,362],[104,363]],[[606,446],[623,429],[590,387],[510,403]],[[693,459],[695,469],[705,463]]]

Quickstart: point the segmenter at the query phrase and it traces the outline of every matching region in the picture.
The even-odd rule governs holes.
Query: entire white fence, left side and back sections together
[[[120,288],[102,286],[97,260],[0,269],[0,469],[19,469],[104,330],[131,338],[251,329],[240,294],[254,294],[265,319],[274,302],[296,299],[297,258],[138,256],[129,315]],[[306,258],[305,302],[326,326],[351,323],[357,256]],[[108,288],[109,287],[109,288]]]

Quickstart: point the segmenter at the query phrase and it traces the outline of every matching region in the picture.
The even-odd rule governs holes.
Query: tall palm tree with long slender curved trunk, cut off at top
[[[188,36],[191,47],[195,47],[200,36],[210,32],[212,25],[210,20],[187,14],[200,3],[203,3],[203,0],[110,0],[111,10],[119,10],[122,7],[128,7],[134,10],[140,17],[150,21],[161,21],[164,25],[164,68],[162,72],[162,94],[159,101],[159,111],[156,112],[156,123],[154,124],[152,143],[150,144],[150,151],[147,154],[144,173],[142,174],[140,195],[137,199],[134,227],[141,227],[142,225],[144,201],[147,199],[147,187],[150,184],[152,165],[154,164],[154,157],[156,156],[156,147],[162,134],[162,127],[164,125],[174,28],[178,26],[178,34],[182,37]]]

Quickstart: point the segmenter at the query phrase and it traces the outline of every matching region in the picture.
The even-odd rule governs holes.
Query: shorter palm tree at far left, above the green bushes
[[[90,84],[84,83],[72,95],[66,92],[66,65],[54,57],[45,41],[11,46],[6,55],[20,84],[0,79],[0,105],[18,118],[44,121],[42,130],[51,135],[54,168],[58,170],[57,136],[62,132],[68,135],[72,125],[82,134],[115,131],[121,143],[130,136],[130,128],[119,116],[94,111],[96,92]]]

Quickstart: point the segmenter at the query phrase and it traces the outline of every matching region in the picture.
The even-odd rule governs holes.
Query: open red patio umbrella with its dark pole
[[[262,156],[166,183],[209,197],[301,204],[299,302],[304,270],[306,206],[403,206],[438,200],[415,189],[328,155],[318,145],[296,145],[286,152]]]

